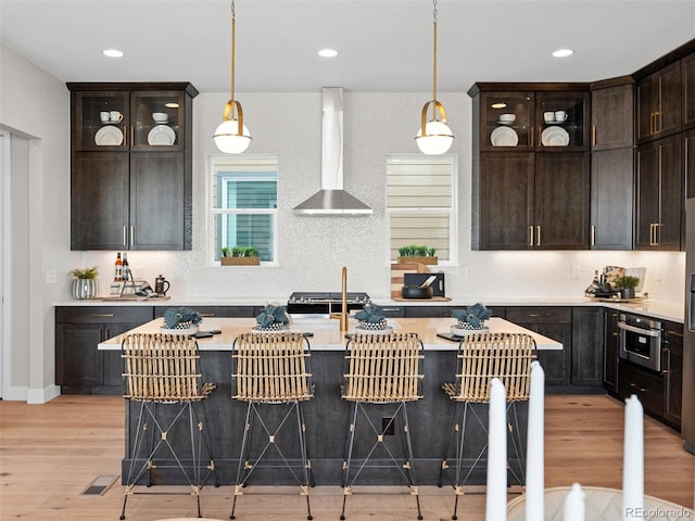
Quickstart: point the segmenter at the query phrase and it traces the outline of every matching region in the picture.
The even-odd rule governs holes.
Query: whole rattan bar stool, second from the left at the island
[[[314,397],[308,341],[302,333],[294,332],[244,333],[235,340],[231,356],[232,397],[247,402],[248,406],[230,519],[235,519],[237,497],[243,494],[242,490],[255,470],[286,468],[300,485],[300,494],[306,496],[306,519],[311,520],[308,488],[313,485],[313,475],[302,408],[303,402]],[[268,406],[282,405],[287,410],[278,420]],[[283,439],[287,430],[283,428],[289,427],[292,416],[296,420],[296,447]],[[267,441],[252,455],[252,434],[256,422]],[[280,447],[281,441],[288,443]],[[286,455],[287,448],[299,453],[299,461],[295,456]],[[270,454],[279,459],[268,458]],[[298,469],[301,469],[301,474]]]

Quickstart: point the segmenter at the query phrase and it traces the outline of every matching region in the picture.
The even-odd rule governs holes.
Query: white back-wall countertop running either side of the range
[[[142,300],[73,300],[54,304],[55,306],[264,306],[268,302],[286,304],[288,295],[285,296],[230,296],[230,297],[172,297],[172,298],[142,298]],[[491,306],[603,306],[606,308],[632,312],[639,315],[671,320],[683,323],[684,305],[673,302],[645,298],[639,302],[606,302],[584,296],[558,297],[558,296],[493,296],[484,298],[454,297],[451,301],[394,301],[389,297],[375,297],[375,304],[380,306],[453,306],[468,307],[477,302],[481,302],[488,307]]]

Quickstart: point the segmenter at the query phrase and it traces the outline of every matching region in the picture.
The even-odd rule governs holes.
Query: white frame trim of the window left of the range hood
[[[279,223],[278,223],[278,208],[248,208],[248,209],[223,209],[218,212],[213,211],[213,168],[218,163],[228,162],[230,164],[243,161],[249,164],[274,164],[278,176],[278,199],[279,199],[279,186],[280,186],[280,171],[278,165],[278,158],[275,155],[247,155],[243,157],[228,156],[228,155],[211,155],[207,158],[207,168],[205,169],[205,258],[207,259],[207,266],[223,268],[218,260],[215,260],[215,234],[212,226],[217,214],[273,214],[274,215],[274,233],[273,233],[273,251],[275,252],[273,262],[262,260],[261,267],[277,267],[279,266]],[[236,165],[235,165],[236,166]],[[226,267],[226,266],[225,266]],[[255,266],[256,268],[258,266]]]

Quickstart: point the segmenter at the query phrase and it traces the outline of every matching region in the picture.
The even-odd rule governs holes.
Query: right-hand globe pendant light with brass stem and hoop
[[[420,152],[428,155],[445,153],[454,142],[452,129],[446,125],[446,111],[437,100],[437,0],[433,0],[433,46],[432,46],[432,100],[425,103],[420,114],[420,128],[415,137]],[[431,119],[427,120],[427,113],[432,110]],[[439,118],[438,118],[439,116]]]

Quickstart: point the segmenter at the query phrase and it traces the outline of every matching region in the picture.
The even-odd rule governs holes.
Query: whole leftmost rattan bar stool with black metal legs
[[[129,334],[121,356],[126,408],[140,404],[121,519],[136,485],[147,478],[151,486],[153,471],[167,468],[181,471],[202,517],[200,492],[211,474],[217,486],[204,406],[215,385],[202,381],[198,343],[186,335]]]

